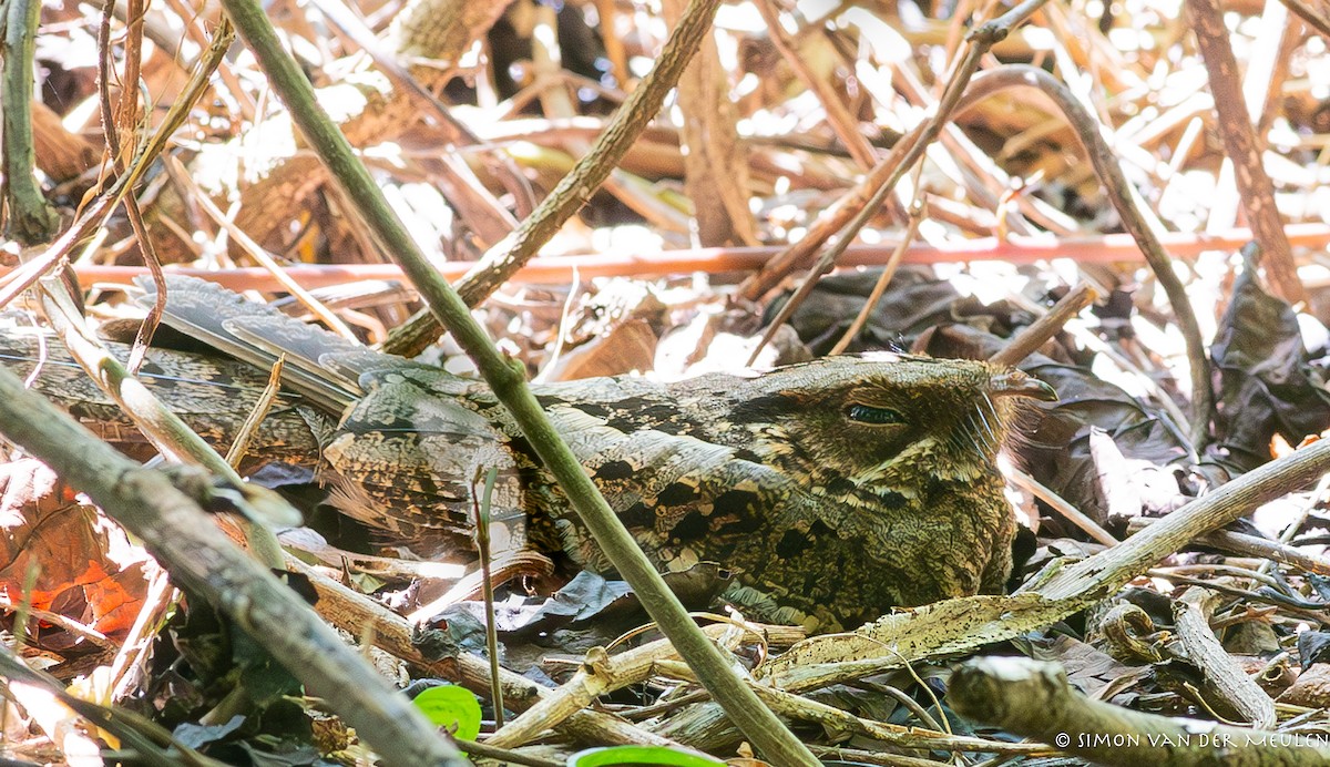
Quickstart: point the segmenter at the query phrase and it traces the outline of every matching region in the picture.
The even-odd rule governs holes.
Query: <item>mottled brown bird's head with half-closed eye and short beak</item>
[[[992,473],[1021,400],[1056,399],[1020,371],[898,354],[825,358],[749,384],[734,425],[751,449],[835,496]]]

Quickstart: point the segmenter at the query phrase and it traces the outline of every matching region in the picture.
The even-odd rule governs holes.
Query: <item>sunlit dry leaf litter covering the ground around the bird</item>
[[[404,9],[370,5],[359,8],[364,16],[358,17],[384,41],[396,44],[408,36],[398,27],[386,28],[394,16],[404,17]],[[857,153],[866,148],[867,157],[880,158],[914,126],[919,110],[935,104],[946,81],[938,73],[955,60],[967,21],[915,4],[894,11],[769,7],[787,28],[765,29],[750,4],[722,5],[717,19],[716,39],[724,53],[717,72],[728,78],[734,106],[743,116],[738,132],[746,140],[746,178],[694,177],[698,170],[688,165],[680,142],[696,141],[697,134],[689,133],[688,121],[658,120],[634,144],[618,174],[541,251],[553,271],[539,279],[519,275],[477,310],[492,336],[533,376],[681,378],[733,368],[754,352],[761,366],[827,354],[867,302],[880,274],[880,267],[870,265],[883,263],[895,249],[908,206],[919,197],[930,205],[918,242],[906,251],[906,265],[871,307],[850,351],[988,358],[1073,284],[1089,283],[1099,292],[1095,306],[1021,363],[1052,384],[1060,400],[1043,407],[1043,417],[1013,449],[1013,471],[1028,472],[1043,488],[1031,494],[1023,485],[1021,493],[1013,493],[1029,529],[1019,544],[1025,564],[1012,576],[1013,589],[1048,577],[1040,572],[1045,565],[1056,568],[1060,557],[1105,549],[1103,540],[1053,512],[1051,496],[1121,540],[1330,427],[1325,385],[1330,273],[1323,255],[1330,242],[1323,141],[1330,130],[1325,104],[1330,58],[1325,31],[1314,20],[1305,27],[1297,13],[1281,15],[1282,7],[1273,4],[1238,4],[1230,11],[1232,43],[1248,72],[1273,66],[1267,110],[1256,114],[1256,121],[1267,145],[1262,158],[1275,202],[1295,235],[1297,275],[1306,291],[1306,302],[1295,306],[1281,298],[1278,284],[1271,286],[1269,254],[1258,262],[1238,253],[1252,237],[1234,229],[1244,199],[1225,181],[1225,152],[1216,134],[1205,68],[1177,4],[1048,5],[994,48],[994,64],[1033,62],[1080,89],[1092,112],[1112,125],[1128,179],[1168,233],[1176,271],[1209,339],[1217,393],[1212,439],[1198,449],[1188,423],[1194,417],[1189,395],[1196,382],[1157,276],[1140,262],[1133,243],[1113,239],[1123,222],[1108,205],[1109,193],[1083,161],[1065,124],[1052,118],[1039,98],[1003,93],[950,122],[939,150],[930,152],[923,170],[907,175],[875,211],[841,269],[817,282],[770,343],[759,342],[802,278],[798,271],[777,274],[767,288],[750,290],[750,270],[815,230],[827,209],[867,170],[857,165],[862,157]],[[150,19],[201,29],[197,19],[182,15],[184,8],[153,8]],[[624,84],[640,77],[640,65],[649,62],[665,29],[665,17],[641,4],[515,4],[488,32],[488,58],[467,53],[458,69],[444,74],[414,70],[422,81],[439,78],[431,88],[447,86],[443,93],[456,118],[475,133],[458,162],[439,160],[440,141],[456,142],[458,137],[450,138],[450,129],[436,120],[407,121],[391,109],[379,122],[368,113],[354,114],[362,96],[347,100],[347,84],[376,77],[364,65],[355,35],[340,23],[315,33],[306,9],[282,8],[282,25],[315,85],[330,97],[343,89],[339,106],[350,114],[343,129],[367,150],[399,215],[415,227],[418,241],[435,249],[432,255],[452,263],[464,263],[505,234],[585,152],[622,98]],[[72,109],[96,104],[94,58],[86,53],[96,51],[97,19],[73,4],[45,4],[43,13],[37,33],[43,98],[64,118],[60,128],[48,129],[72,152],[43,153],[37,165],[48,197],[72,213],[96,178],[90,170],[96,161],[88,158],[100,153],[102,141],[96,121]],[[471,32],[479,36],[480,27]],[[614,32],[606,32],[609,27]],[[120,21],[112,28],[122,31]],[[797,33],[783,44],[799,53],[806,72],[771,39],[790,36],[791,29]],[[561,60],[557,49],[541,48],[541,35],[549,31],[563,47]],[[201,37],[192,35],[197,48]],[[158,66],[145,73],[145,84],[154,98],[166,102],[178,89],[180,73],[172,69],[172,47],[160,43],[152,40],[141,53]],[[886,48],[892,45],[907,53],[888,55]],[[181,44],[188,57],[186,48]],[[1270,52],[1277,53],[1273,61]],[[815,92],[809,72],[831,89]],[[323,183],[322,171],[301,164],[309,158],[294,152],[281,109],[255,98],[251,76],[257,74],[253,60],[243,56],[227,62],[215,98],[200,102],[170,150],[202,190],[170,179],[166,171],[149,183],[144,205],[158,257],[186,267],[234,270],[238,279],[250,280],[245,287],[269,295],[278,291],[270,278],[237,269],[247,265],[242,249],[190,199],[200,193],[231,195],[239,201],[241,229],[286,263],[343,269],[339,278],[319,279],[325,286],[355,280],[354,288],[314,286],[314,298],[338,311],[362,340],[382,343],[415,306],[392,275],[374,271],[372,243],[344,215],[348,201]],[[1254,77],[1249,74],[1249,85],[1257,84]],[[382,82],[375,88],[390,93],[388,105],[400,110],[400,94]],[[829,97],[847,113],[838,117]],[[859,140],[841,130],[846,118],[863,146],[847,148]],[[258,136],[277,140],[259,141]],[[257,170],[263,166],[277,170],[265,177]],[[689,195],[706,199],[698,186],[706,183],[716,185],[721,197],[692,202]],[[725,194],[741,186],[742,197],[751,201],[751,231],[745,226],[728,230],[716,215],[726,210],[735,218],[735,210],[725,207]],[[275,195],[270,195],[273,189]],[[94,288],[90,315],[110,323],[134,315],[108,287],[121,278],[106,267],[141,261],[122,214],[105,222],[102,235],[74,271],[84,287]],[[767,250],[741,247],[758,243]],[[758,253],[761,261],[742,261],[746,253]],[[17,251],[5,247],[4,254]],[[567,259],[584,263],[584,273],[559,267],[560,255],[600,261]],[[665,266],[641,267],[637,258],[645,255],[664,257]],[[668,261],[681,255],[692,261],[681,261],[682,266]],[[290,303],[286,308],[302,311]],[[759,346],[765,348],[758,351]],[[423,359],[459,374],[469,370],[447,338]],[[258,642],[219,621],[200,600],[153,598],[156,565],[48,471],[16,460],[5,465],[4,480],[7,627],[12,646],[29,663],[72,689],[92,690],[85,693],[90,699],[148,714],[188,746],[225,762],[367,759],[355,736],[303,698]],[[447,562],[372,550],[363,530],[319,509],[319,492],[299,471],[270,467],[255,480],[282,488],[310,512],[310,526],[287,533],[285,541],[321,562],[323,574],[402,614],[428,611],[415,627],[415,641],[422,658],[434,665],[426,669],[430,663],[422,658],[374,650],[386,673],[402,682],[428,679],[450,655],[488,654],[491,607],[480,601],[475,578],[459,581],[458,573],[447,572]],[[1330,573],[1323,565],[1330,517],[1322,501],[1319,493],[1293,494],[1234,528],[1234,533],[1274,544],[1266,553],[1208,536],[1148,573],[1136,573],[1128,586],[1092,607],[1020,631],[998,646],[986,647],[976,634],[959,654],[1053,661],[1085,695],[1137,711],[1254,722],[1241,703],[1234,707],[1213,667],[1178,638],[1177,603],[1188,589],[1209,589],[1216,603],[1206,607],[1206,615],[1224,655],[1209,661],[1241,669],[1281,703],[1278,722],[1264,726],[1277,724],[1315,744],[1314,736],[1326,732],[1330,722],[1323,712],[1330,702],[1323,682],[1322,578]],[[1303,558],[1289,560],[1290,549]],[[678,590],[690,594],[696,607],[714,609],[712,597],[728,577],[724,565],[685,573]],[[656,638],[649,630],[641,633],[645,618],[626,584],[565,573],[540,560],[515,568],[517,576],[499,590],[492,607],[507,669],[548,686],[579,675],[612,678],[597,687],[602,693],[595,697],[596,710],[717,756],[742,755],[745,746],[733,730],[689,728],[689,722],[705,720],[704,703],[696,683],[670,666],[666,654],[629,671],[598,650],[610,647],[609,657],[617,657],[625,646],[640,647]],[[23,622],[15,622],[15,615]],[[370,651],[371,634],[348,633],[347,639]],[[735,630],[725,641],[754,674],[778,677],[770,659],[798,641],[799,633],[769,629],[757,635]],[[817,651],[826,646],[813,645]],[[805,651],[811,650],[805,646]],[[785,712],[807,742],[863,763],[903,754],[944,759],[948,750],[983,751],[962,739],[903,744],[884,731],[902,724],[955,738],[992,736],[992,752],[1019,759],[1051,751],[1003,751],[1009,734],[952,711],[947,689],[955,654],[807,693],[853,716],[815,716],[810,709],[799,715]],[[130,683],[117,685],[126,678]],[[466,674],[451,681],[488,695],[488,685]],[[237,690],[243,693],[239,702]],[[513,706],[511,720],[519,703],[507,703]],[[226,715],[231,711],[234,716]],[[52,732],[35,736],[39,716],[32,710],[24,714],[17,722],[31,723],[31,731],[7,728],[13,754],[36,758],[52,740],[64,743]],[[491,727],[495,714],[487,703]],[[112,743],[104,739],[102,746]],[[560,731],[528,750],[537,758],[561,759],[575,744]],[[1121,758],[1112,751],[1080,755],[1100,762]],[[65,756],[74,760],[68,751]]]

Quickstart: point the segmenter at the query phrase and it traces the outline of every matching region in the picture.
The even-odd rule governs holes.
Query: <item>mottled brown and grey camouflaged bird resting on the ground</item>
[[[287,355],[283,380],[299,396],[274,408],[251,451],[317,463],[330,502],[386,541],[422,556],[469,549],[477,476],[492,467],[496,548],[533,545],[610,569],[484,384],[202,280],[170,278],[168,298],[177,330],[257,366]],[[149,359],[158,395],[222,447],[234,437],[222,413],[243,419],[263,387],[237,363],[165,350]],[[122,420],[89,404],[86,384],[73,403],[76,382],[43,385],[102,433]],[[1017,371],[895,354],[533,389],[657,568],[717,562],[734,573],[724,597],[747,614],[818,630],[999,592],[1015,521],[995,457],[1020,400],[1053,399]]]

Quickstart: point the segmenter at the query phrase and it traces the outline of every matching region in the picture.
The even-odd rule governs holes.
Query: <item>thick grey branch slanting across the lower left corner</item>
[[[203,594],[263,643],[386,762],[466,763],[301,597],[227,541],[194,497],[97,440],[3,370],[0,429],[142,538],[177,582]],[[192,479],[207,487],[205,476]]]

